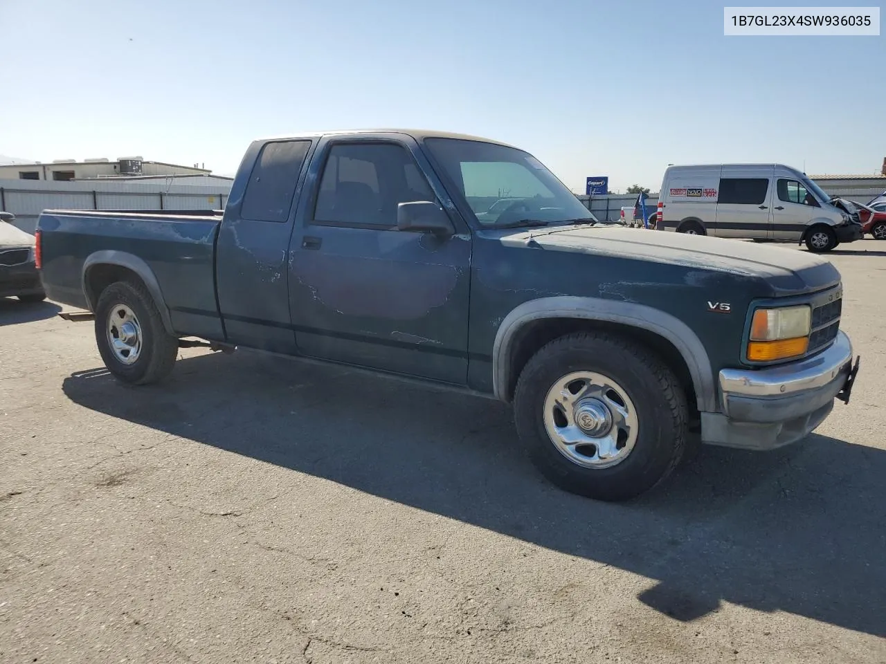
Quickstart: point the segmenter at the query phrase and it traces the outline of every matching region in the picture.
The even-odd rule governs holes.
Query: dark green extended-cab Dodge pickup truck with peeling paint
[[[858,370],[827,261],[595,224],[474,136],[256,141],[223,212],[54,210],[36,235],[46,293],[95,313],[121,382],[203,343],[466,390],[513,404],[541,472],[592,498],[649,490],[691,440],[793,443]]]

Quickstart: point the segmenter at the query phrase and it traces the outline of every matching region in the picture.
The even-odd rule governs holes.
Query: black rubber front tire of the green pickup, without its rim
[[[573,372],[609,377],[639,406],[633,450],[614,466],[583,467],[548,435],[548,390]],[[676,376],[641,346],[602,332],[562,336],[532,356],[517,381],[514,419],[543,475],[564,490],[599,500],[626,500],[652,489],[677,467],[687,447],[688,406]]]

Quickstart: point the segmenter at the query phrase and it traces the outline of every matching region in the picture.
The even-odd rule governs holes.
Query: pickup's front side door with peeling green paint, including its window
[[[315,358],[465,385],[470,235],[397,229],[397,205],[437,200],[410,142],[318,146],[314,195],[291,244],[296,344]]]

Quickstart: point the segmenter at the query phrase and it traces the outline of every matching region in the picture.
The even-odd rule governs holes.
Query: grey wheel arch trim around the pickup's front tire
[[[557,336],[589,328],[618,331],[651,346],[686,383],[690,403],[699,411],[719,411],[711,360],[686,323],[646,305],[599,297],[542,297],[511,311],[495,336],[495,397],[511,401],[520,371],[541,346]]]

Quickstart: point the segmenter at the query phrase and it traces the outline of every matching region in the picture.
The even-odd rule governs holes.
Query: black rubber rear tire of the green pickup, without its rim
[[[121,361],[109,339],[109,320],[120,306],[135,314],[140,328],[139,352],[132,364]],[[178,356],[178,339],[170,335],[154,305],[151,293],[141,282],[115,282],[102,291],[96,306],[96,344],[105,367],[120,382],[146,385],[167,377]]]

